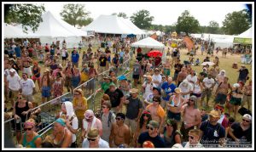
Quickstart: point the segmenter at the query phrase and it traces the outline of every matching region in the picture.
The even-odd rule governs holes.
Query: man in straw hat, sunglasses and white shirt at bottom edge
[[[109,146],[108,142],[100,137],[99,130],[91,128],[86,138],[84,138],[82,148],[109,148]]]

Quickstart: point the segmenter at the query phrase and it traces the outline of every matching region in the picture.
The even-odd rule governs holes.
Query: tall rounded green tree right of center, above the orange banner
[[[196,33],[199,31],[199,27],[198,20],[191,16],[188,10],[185,10],[182,15],[177,18],[176,29],[178,33],[183,31],[189,35],[189,33]]]

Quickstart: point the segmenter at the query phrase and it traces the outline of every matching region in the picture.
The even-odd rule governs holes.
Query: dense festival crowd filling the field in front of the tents
[[[70,54],[65,41],[61,46],[53,42],[44,47],[40,42],[5,43],[4,98],[5,107],[10,105],[5,112],[13,111],[15,123],[22,123],[14,125],[20,147],[252,147],[252,114],[241,111],[252,108],[252,81],[247,81],[249,71],[244,65],[237,71],[237,82],[230,84],[230,76],[218,67],[222,64],[218,57],[214,66],[205,65],[197,73],[193,61],[182,63],[179,48],[168,49],[162,62],[160,57],[148,58],[141,48],[133,52],[130,44],[134,40],[112,40],[113,47],[106,46],[105,51],[99,47],[96,52],[91,45],[82,51],[79,42],[79,49],[73,48]],[[133,55],[135,61],[131,62]],[[208,56],[205,60],[210,61]],[[39,65],[40,61],[44,64]],[[132,80],[117,76],[120,65],[131,71]],[[88,94],[94,93],[96,77],[106,70],[109,75],[102,76],[96,91],[103,94],[101,108],[90,110],[84,89],[77,87],[95,78],[86,88]],[[32,110],[33,104],[60,97],[64,87],[73,94],[73,101],[57,103],[61,112],[53,132],[42,138],[32,119],[41,110]],[[34,99],[36,93],[41,94],[41,101]]]

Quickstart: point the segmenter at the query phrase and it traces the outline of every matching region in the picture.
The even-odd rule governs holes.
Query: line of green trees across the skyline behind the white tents
[[[4,4],[4,22],[17,23],[23,25],[23,30],[27,31],[26,25],[32,27],[32,31],[36,31],[42,20],[41,15],[44,13],[43,5],[33,4]],[[124,12],[113,13],[119,17],[129,19]],[[84,4],[65,4],[61,11],[62,20],[65,20],[70,25],[85,26],[93,21],[90,18],[90,12],[86,10]],[[178,16],[177,22],[172,25],[154,25],[152,21],[154,16],[146,9],[139,10],[132,14],[130,20],[138,28],[143,30],[164,31],[171,33],[172,31],[181,31],[186,34],[190,33],[212,33],[234,35],[246,31],[252,26],[252,12],[250,9],[242,9],[226,14],[223,21],[223,26],[220,27],[218,22],[211,20],[209,25],[200,25],[199,21],[192,16],[188,10]],[[167,20],[167,19],[166,19]]]

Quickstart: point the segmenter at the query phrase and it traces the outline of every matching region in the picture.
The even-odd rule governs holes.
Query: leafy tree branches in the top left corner
[[[44,5],[33,4],[4,4],[4,22],[21,24],[23,31],[30,26],[32,31],[37,31],[43,21]]]

